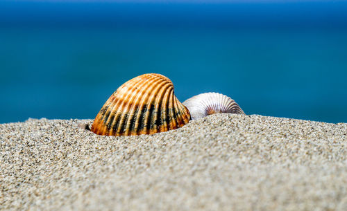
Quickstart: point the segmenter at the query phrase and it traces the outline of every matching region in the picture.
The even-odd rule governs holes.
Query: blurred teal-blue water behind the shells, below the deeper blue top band
[[[0,28],[0,123],[94,118],[143,73],[169,77],[181,101],[216,91],[248,114],[347,122],[344,27],[34,25]]]

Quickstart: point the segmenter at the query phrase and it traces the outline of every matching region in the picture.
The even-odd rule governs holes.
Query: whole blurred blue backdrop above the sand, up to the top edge
[[[0,0],[0,123],[94,118],[143,73],[181,102],[347,122],[347,1]]]

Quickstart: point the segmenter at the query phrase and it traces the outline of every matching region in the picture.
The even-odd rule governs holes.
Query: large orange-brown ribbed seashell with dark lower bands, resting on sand
[[[189,120],[171,80],[150,73],[121,85],[99,111],[91,131],[106,136],[155,134],[183,127]]]

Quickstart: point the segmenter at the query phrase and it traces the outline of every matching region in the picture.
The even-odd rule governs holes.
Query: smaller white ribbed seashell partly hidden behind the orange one
[[[192,120],[203,118],[212,113],[245,114],[235,100],[221,93],[209,92],[195,95],[185,100],[183,104],[189,110]]]

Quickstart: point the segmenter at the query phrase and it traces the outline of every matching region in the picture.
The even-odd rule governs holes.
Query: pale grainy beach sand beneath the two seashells
[[[347,124],[217,114],[154,135],[0,125],[0,210],[347,210]]]

